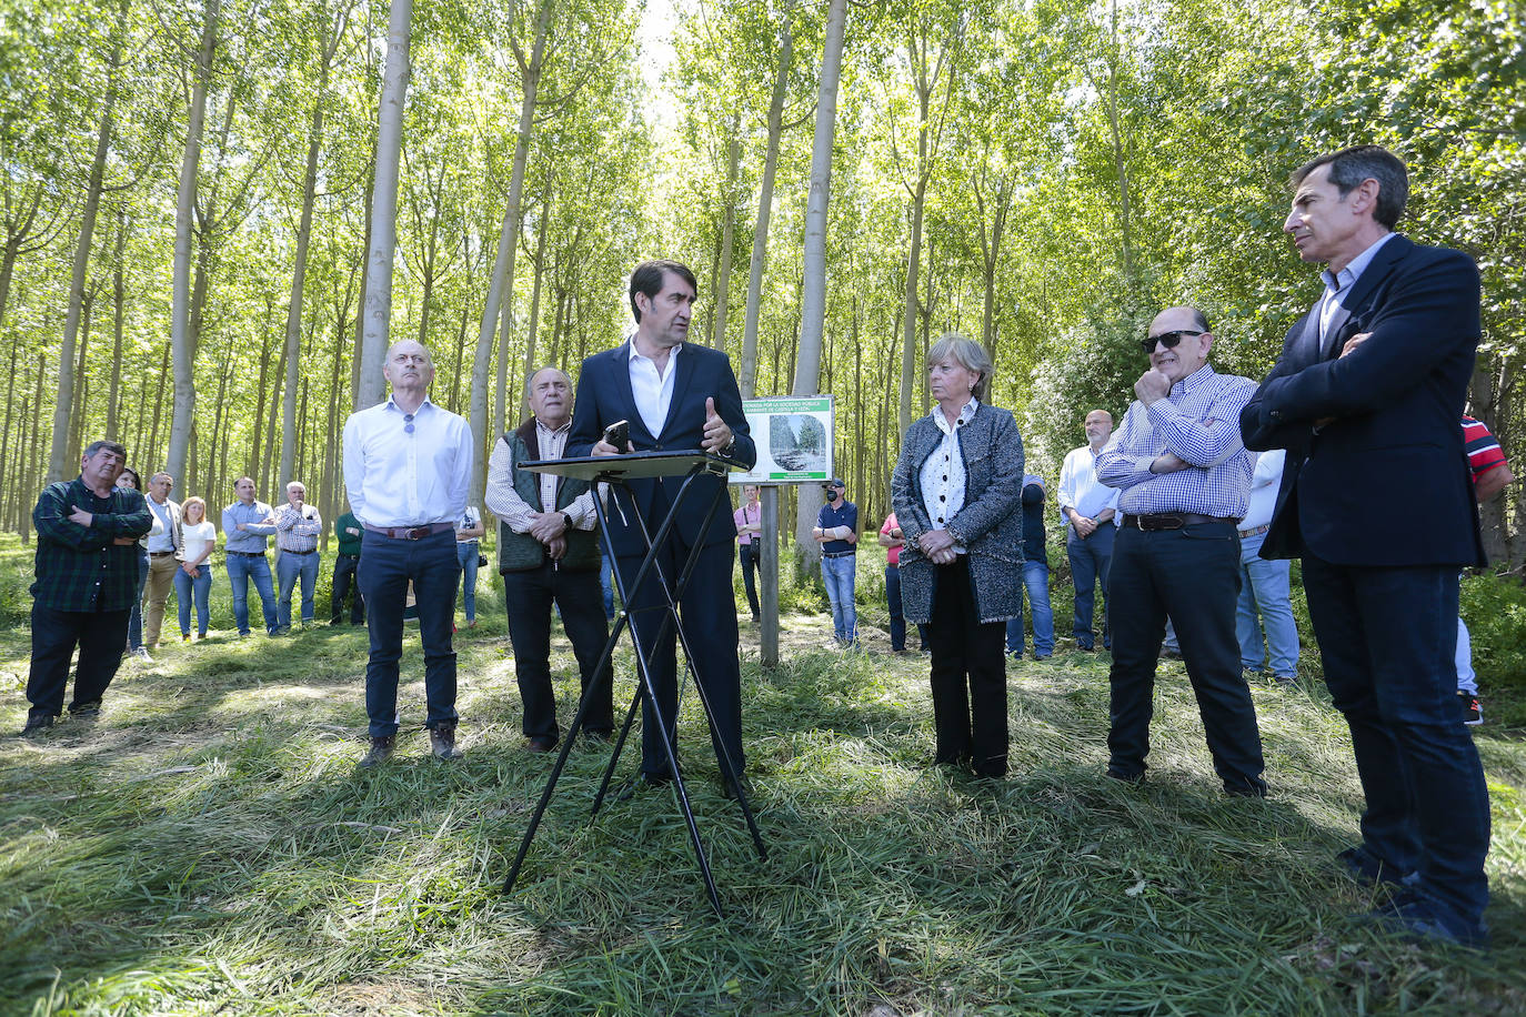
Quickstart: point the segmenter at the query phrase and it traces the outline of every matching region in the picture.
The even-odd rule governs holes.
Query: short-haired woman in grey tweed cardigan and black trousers
[[[986,406],[990,357],[948,334],[928,351],[937,407],[913,422],[890,482],[905,534],[900,598],[928,622],[935,762],[1007,772],[1006,622],[1021,608],[1022,436]]]

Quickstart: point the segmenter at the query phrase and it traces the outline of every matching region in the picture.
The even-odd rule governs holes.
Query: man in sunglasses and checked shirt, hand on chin
[[[1144,779],[1155,660],[1169,614],[1224,793],[1264,797],[1260,730],[1235,631],[1238,526],[1254,468],[1239,415],[1256,383],[1216,374],[1212,345],[1202,311],[1157,314],[1140,340],[1151,367],[1134,383],[1138,398],[1097,456],[1097,479],[1119,488],[1122,515],[1108,590],[1108,776]]]

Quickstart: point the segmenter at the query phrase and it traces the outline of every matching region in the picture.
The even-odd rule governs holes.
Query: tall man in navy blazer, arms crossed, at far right
[[[1466,255],[1393,233],[1404,163],[1376,145],[1293,174],[1283,229],[1325,294],[1241,415],[1248,448],[1286,448],[1264,558],[1303,558],[1335,707],[1367,808],[1343,851],[1399,887],[1375,913],[1412,935],[1486,939],[1489,800],[1454,703],[1457,567],[1483,563],[1457,418],[1482,332]]]

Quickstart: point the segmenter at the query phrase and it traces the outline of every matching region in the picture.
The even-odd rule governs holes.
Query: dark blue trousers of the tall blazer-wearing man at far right
[[[1325,683],[1367,797],[1366,848],[1477,926],[1489,900],[1489,794],[1457,715],[1457,567],[1303,557]]]

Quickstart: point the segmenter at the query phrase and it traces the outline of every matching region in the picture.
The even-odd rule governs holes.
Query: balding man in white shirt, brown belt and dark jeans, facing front
[[[424,643],[429,744],[441,759],[459,755],[450,628],[461,581],[455,523],[467,505],[472,428],[429,401],[435,364],[420,343],[392,343],[382,371],[392,396],[345,421],[345,486],[351,511],[365,529],[359,585],[371,634],[366,665],[371,750],[362,767],[386,761],[397,738],[397,680],[409,581]]]

